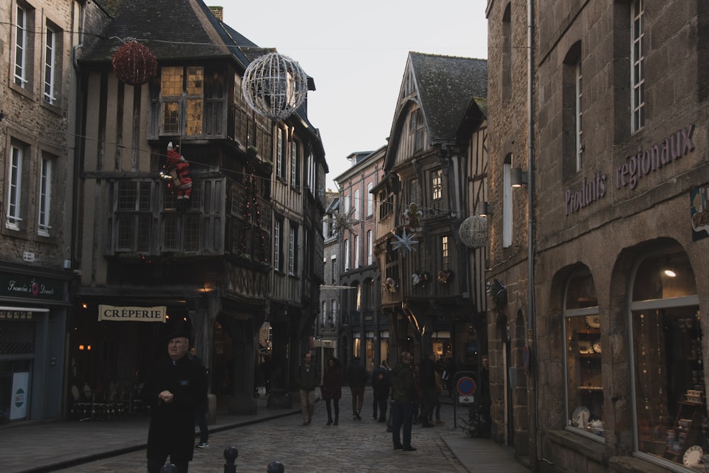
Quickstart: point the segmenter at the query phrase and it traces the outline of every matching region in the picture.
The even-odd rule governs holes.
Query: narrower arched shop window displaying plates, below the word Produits
[[[564,291],[566,413],[569,429],[603,441],[601,317],[593,277],[571,274]]]

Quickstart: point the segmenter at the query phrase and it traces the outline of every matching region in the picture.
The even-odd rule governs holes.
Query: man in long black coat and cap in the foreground
[[[194,413],[206,398],[207,382],[201,364],[186,356],[185,331],[167,338],[167,355],[155,363],[144,390],[150,406],[147,434],[147,471],[160,473],[167,457],[177,472],[187,473],[194,451]]]

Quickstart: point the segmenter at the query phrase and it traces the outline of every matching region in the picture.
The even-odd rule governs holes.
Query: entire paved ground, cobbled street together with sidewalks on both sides
[[[371,391],[369,396],[365,394],[362,421],[352,420],[349,389],[342,391],[340,425],[325,425],[327,413],[322,401],[316,404],[310,425],[301,425],[295,401],[292,409],[269,409],[260,399],[257,416],[219,415],[216,425],[210,425],[210,447],[195,450],[189,472],[223,472],[223,452],[230,446],[238,450],[236,472],[266,472],[273,461],[284,464],[285,473],[529,472],[515,462],[506,447],[470,438],[460,428],[460,421],[454,428],[451,404],[442,405],[444,423],[434,428],[413,426],[411,443],[418,450],[393,450],[386,425],[372,418]],[[457,416],[464,416],[460,406]],[[4,473],[146,471],[145,416],[6,428],[0,430],[0,436],[6,440],[0,443],[0,470]]]

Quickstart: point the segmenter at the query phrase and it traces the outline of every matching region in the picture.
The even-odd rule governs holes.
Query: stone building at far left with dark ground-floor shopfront
[[[57,418],[74,274],[74,46],[84,2],[0,13],[0,424]]]

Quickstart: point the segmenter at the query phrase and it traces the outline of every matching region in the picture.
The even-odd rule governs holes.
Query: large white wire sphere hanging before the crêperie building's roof
[[[298,62],[269,52],[246,68],[242,91],[246,103],[259,115],[284,120],[305,101],[308,77]]]

